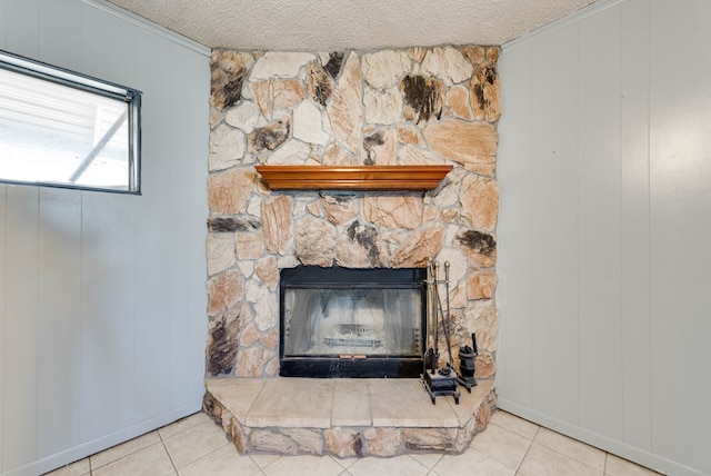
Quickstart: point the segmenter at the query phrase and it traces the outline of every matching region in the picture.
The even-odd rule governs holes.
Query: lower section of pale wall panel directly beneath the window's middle
[[[42,458],[80,442],[81,192],[39,194],[36,432]]]

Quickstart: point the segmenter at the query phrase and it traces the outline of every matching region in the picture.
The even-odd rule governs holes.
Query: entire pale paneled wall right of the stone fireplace
[[[711,2],[602,1],[505,44],[499,403],[711,474]]]

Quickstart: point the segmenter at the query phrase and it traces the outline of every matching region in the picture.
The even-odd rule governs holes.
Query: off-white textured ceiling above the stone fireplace
[[[503,44],[595,0],[109,0],[210,48]]]

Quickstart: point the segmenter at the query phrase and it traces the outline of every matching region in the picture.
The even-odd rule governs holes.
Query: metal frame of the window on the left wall
[[[76,185],[67,181],[12,180],[0,176],[0,184],[31,185],[38,187],[68,188],[111,194],[141,195],[141,99],[142,92],[114,82],[32,60],[0,49],[0,68],[49,81],[67,88],[78,89],[106,98],[121,100],[128,106],[128,169],[127,188]]]

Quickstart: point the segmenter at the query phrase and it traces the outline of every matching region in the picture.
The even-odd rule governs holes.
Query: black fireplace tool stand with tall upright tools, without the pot
[[[459,388],[457,383],[457,374],[452,370],[452,359],[451,359],[451,350],[450,359],[447,365],[442,368],[439,368],[439,316],[442,316],[442,324],[444,320],[444,310],[442,309],[442,301],[440,300],[439,295],[439,284],[444,282],[448,288],[448,298],[447,298],[447,314],[449,316],[449,261],[444,262],[444,281],[439,281],[437,278],[439,268],[439,264],[437,261],[432,261],[431,259],[428,261],[427,268],[427,289],[428,289],[428,337],[432,336],[432,347],[430,347],[424,354],[424,365],[422,369],[422,385],[424,389],[430,396],[432,400],[432,405],[437,404],[437,397],[440,395],[452,395],[454,397],[454,403],[459,405]],[[447,327],[443,326],[443,329],[447,330]],[[445,333],[448,349],[451,348],[449,345],[449,331]]]

